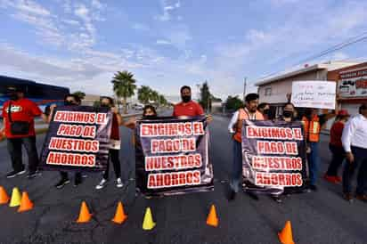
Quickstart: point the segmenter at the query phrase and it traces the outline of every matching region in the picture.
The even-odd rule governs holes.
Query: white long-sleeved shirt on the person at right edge
[[[350,118],[343,129],[341,142],[347,152],[351,151],[351,146],[367,149],[367,118],[362,114]]]

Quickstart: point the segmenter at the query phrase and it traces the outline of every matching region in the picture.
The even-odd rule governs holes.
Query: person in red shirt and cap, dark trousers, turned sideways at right
[[[329,149],[332,158],[328,171],[323,175],[323,178],[330,183],[341,183],[341,177],[338,176],[338,168],[342,165],[344,159],[346,159],[346,151],[343,149],[341,135],[349,117],[347,110],[339,110],[337,118],[330,129]]]

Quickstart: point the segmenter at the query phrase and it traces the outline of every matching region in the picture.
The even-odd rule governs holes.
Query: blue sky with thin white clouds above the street
[[[222,98],[367,31],[367,1],[0,0],[0,74],[111,94],[118,70]],[[366,42],[308,63],[363,60]],[[196,89],[196,88],[195,88]],[[249,91],[256,91],[250,85]]]

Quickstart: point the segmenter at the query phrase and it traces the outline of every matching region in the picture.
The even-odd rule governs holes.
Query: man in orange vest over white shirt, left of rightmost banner
[[[245,98],[245,108],[237,110],[228,126],[229,132],[232,134],[232,174],[230,179],[231,192],[229,199],[235,199],[236,193],[240,191],[242,183],[242,124],[245,119],[264,120],[263,114],[257,111],[258,94],[248,94]]]

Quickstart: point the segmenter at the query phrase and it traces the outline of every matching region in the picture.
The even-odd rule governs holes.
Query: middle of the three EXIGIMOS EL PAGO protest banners
[[[205,117],[137,122],[136,187],[148,196],[212,191]]]

